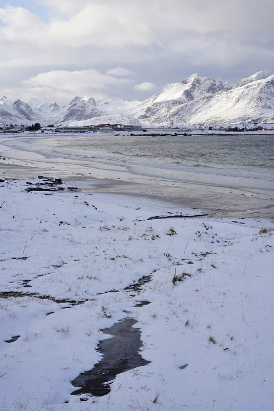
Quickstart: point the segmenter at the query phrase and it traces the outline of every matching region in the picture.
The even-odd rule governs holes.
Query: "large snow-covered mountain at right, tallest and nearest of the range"
[[[229,85],[193,74],[181,83],[168,84],[132,114],[151,125],[269,121],[274,115],[273,78],[273,73],[263,70]]]

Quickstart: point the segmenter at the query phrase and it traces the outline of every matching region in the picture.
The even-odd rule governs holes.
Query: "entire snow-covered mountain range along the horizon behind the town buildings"
[[[274,73],[262,70],[235,84],[192,74],[143,102],[74,97],[68,106],[31,98],[0,99],[0,123],[144,126],[274,122]]]

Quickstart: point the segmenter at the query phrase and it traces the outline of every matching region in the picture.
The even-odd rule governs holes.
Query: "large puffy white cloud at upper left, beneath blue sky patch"
[[[143,22],[132,22],[105,4],[87,4],[70,18],[48,24],[26,9],[8,6],[0,9],[0,21],[0,44],[9,50],[23,45],[29,51],[35,47],[54,52],[64,47],[141,47],[153,42],[153,34]]]

